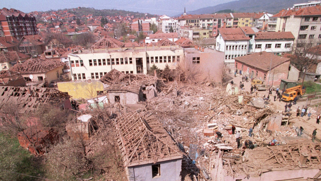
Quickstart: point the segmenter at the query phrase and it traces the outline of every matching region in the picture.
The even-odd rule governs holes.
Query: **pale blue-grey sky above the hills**
[[[80,6],[173,16],[183,13],[184,7],[186,7],[186,11],[193,11],[230,1],[233,0],[0,0],[0,8],[14,8],[29,13],[31,11],[58,10]]]

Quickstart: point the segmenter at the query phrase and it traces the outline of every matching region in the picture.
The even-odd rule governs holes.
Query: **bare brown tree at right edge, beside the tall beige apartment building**
[[[320,41],[315,39],[299,39],[297,44],[292,46],[291,63],[300,71],[303,71],[305,67],[316,65],[319,59],[318,52],[321,51],[321,46],[317,46],[318,43]]]

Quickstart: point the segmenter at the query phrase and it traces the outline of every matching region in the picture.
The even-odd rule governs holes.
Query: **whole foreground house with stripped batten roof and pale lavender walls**
[[[115,126],[129,181],[181,180],[182,152],[156,118],[130,112]]]

